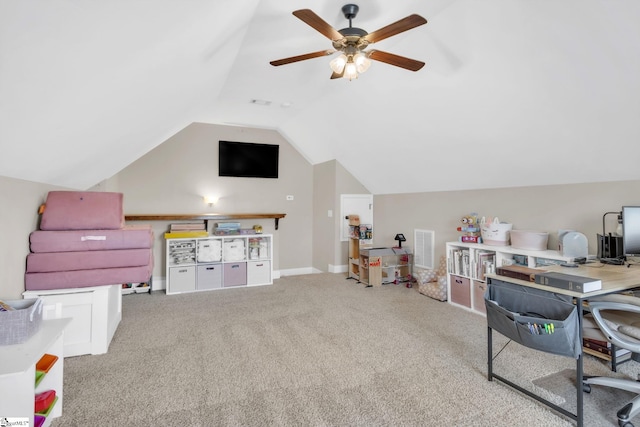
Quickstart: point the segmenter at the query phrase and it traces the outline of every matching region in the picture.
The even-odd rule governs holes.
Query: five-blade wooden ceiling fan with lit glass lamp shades
[[[395,36],[396,34],[424,25],[427,23],[426,19],[420,15],[413,14],[382,27],[377,31],[367,33],[362,28],[356,28],[351,25],[351,20],[356,17],[358,10],[359,7],[355,4],[346,4],[342,7],[344,17],[349,20],[349,27],[341,30],[333,28],[310,9],[294,11],[294,16],[301,19],[307,25],[313,27],[315,30],[331,40],[333,49],[320,50],[318,52],[278,59],[276,61],[271,61],[270,64],[277,67],[279,65],[291,64],[292,62],[305,61],[307,59],[333,55],[336,52],[341,52],[340,56],[333,59],[329,64],[333,70],[331,78],[337,79],[343,77],[349,80],[357,78],[358,73],[367,71],[371,65],[372,59],[410,71],[418,71],[424,66],[424,62],[416,61],[415,59],[405,58],[404,56],[394,55],[381,50],[365,49],[372,43],[379,42],[380,40],[384,40],[388,37]]]

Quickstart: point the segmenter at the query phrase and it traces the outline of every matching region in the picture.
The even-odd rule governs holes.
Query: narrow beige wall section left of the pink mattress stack
[[[51,190],[64,188],[0,177],[0,299],[22,299],[29,234],[38,228],[38,207]]]

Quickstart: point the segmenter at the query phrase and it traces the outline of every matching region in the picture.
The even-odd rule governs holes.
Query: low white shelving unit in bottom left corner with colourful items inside
[[[21,344],[0,347],[0,414],[2,417],[28,418],[34,425],[35,396],[55,390],[57,401],[44,426],[62,415],[63,332],[71,319],[43,320],[38,332]],[[36,364],[45,354],[58,360],[36,386]]]

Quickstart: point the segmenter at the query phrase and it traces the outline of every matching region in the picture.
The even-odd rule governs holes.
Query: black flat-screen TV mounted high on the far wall
[[[220,141],[218,175],[277,178],[279,145]]]

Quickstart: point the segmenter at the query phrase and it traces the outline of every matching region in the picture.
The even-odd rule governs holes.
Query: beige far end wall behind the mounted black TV
[[[218,141],[280,145],[278,179],[218,176]],[[115,183],[115,184],[114,184]],[[124,193],[126,214],[285,213],[274,220],[245,220],[243,227],[261,224],[274,235],[274,269],[311,271],[313,167],[278,132],[194,123],[109,179],[107,186]],[[209,207],[203,197],[218,203]],[[294,196],[287,201],[286,196]],[[163,234],[167,222],[153,222],[156,234],[154,278],[164,277]]]

